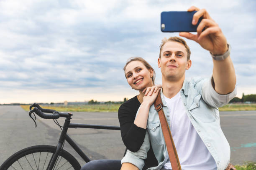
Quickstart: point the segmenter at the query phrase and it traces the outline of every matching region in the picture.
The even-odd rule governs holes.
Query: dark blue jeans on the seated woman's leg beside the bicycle
[[[121,160],[92,160],[82,166],[81,170],[120,170]]]

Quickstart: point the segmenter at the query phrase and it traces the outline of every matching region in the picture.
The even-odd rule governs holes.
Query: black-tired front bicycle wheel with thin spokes
[[[0,166],[0,170],[46,170],[51,155],[56,147],[50,145],[36,145],[25,148],[11,155]],[[43,165],[42,165],[43,164]],[[80,170],[81,166],[66,150],[61,150],[54,170]]]

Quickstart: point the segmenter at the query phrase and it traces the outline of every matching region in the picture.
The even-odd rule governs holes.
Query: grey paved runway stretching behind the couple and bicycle
[[[119,126],[116,112],[73,112],[73,123]],[[53,120],[33,120],[20,106],[0,106],[0,165],[16,151],[32,145],[56,145],[60,128]],[[62,125],[64,119],[59,120]],[[220,112],[220,124],[231,148],[230,162],[256,161],[256,111]],[[119,130],[70,129],[70,137],[92,159],[121,159],[125,146]],[[66,143],[65,150],[84,161]]]

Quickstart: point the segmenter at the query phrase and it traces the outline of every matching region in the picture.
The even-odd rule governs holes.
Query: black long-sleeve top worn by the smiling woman
[[[132,152],[137,152],[141,148],[146,135],[146,129],[140,128],[133,123],[140,105],[141,103],[138,101],[137,96],[135,96],[123,103],[118,110],[122,140],[125,146]],[[147,158],[144,161],[143,170],[158,165],[151,145]]]

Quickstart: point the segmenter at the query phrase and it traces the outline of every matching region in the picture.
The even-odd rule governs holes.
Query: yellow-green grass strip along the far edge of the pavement
[[[21,105],[28,111],[29,105]],[[68,105],[68,106],[41,106],[46,109],[58,110],[61,112],[118,112],[120,104],[97,104],[97,105]],[[241,111],[241,110],[256,110],[256,103],[253,104],[228,104],[219,108],[220,111]]]

